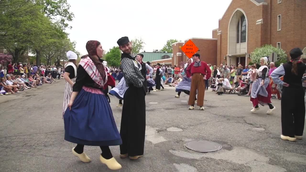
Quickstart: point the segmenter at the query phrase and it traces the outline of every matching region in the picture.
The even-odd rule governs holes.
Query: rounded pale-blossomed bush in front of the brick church
[[[259,64],[259,60],[262,57],[267,57],[272,53],[276,53],[277,54],[277,61],[279,62],[286,62],[287,61],[287,54],[286,51],[281,49],[281,48],[277,48],[277,47],[273,47],[272,45],[263,45],[260,48],[256,48],[252,53],[251,53],[251,60],[252,63],[254,64]]]

